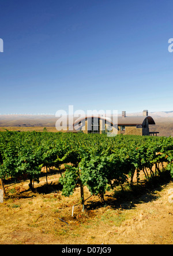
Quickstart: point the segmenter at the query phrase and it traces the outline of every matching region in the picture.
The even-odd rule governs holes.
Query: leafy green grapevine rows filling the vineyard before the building
[[[62,195],[73,195],[76,186],[81,188],[84,210],[84,186],[91,195],[104,201],[104,193],[126,182],[133,186],[136,173],[146,180],[163,170],[173,177],[173,139],[171,137],[115,136],[106,134],[49,133],[3,131],[0,133],[0,177],[39,182],[43,167],[63,172],[59,182]],[[130,181],[129,181],[130,178]]]

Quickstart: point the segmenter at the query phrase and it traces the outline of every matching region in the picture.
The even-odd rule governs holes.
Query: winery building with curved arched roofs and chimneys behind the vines
[[[80,117],[75,120],[73,131],[81,130],[83,133],[99,134],[108,131],[116,134],[157,136],[158,132],[149,131],[149,125],[155,125],[155,121],[151,116],[148,116],[148,110],[144,110],[141,116],[126,116],[126,111],[122,111],[122,115],[118,116],[116,122],[114,120],[114,116],[92,115],[84,118]]]

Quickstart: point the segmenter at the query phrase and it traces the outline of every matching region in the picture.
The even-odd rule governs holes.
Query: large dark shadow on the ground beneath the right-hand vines
[[[170,173],[164,171],[160,176],[153,177],[140,185],[126,185],[125,188],[115,190],[113,195],[104,196],[104,202],[88,200],[85,208],[95,210],[100,207],[111,206],[112,209],[132,209],[136,204],[152,202],[159,198],[157,192],[163,189],[172,180]]]

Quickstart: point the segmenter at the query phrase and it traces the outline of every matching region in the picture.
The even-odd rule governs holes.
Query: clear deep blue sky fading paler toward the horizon
[[[173,111],[170,0],[0,0],[0,113]]]

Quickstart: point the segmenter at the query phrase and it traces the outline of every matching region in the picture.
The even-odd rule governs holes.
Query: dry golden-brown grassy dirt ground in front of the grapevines
[[[80,202],[80,188],[62,196],[59,174],[40,178],[37,192],[28,181],[5,184],[0,203],[0,244],[173,244],[173,181],[143,192],[110,191]],[[90,196],[84,188],[85,199]],[[74,213],[72,217],[72,209]]]

